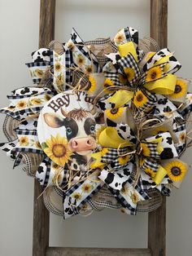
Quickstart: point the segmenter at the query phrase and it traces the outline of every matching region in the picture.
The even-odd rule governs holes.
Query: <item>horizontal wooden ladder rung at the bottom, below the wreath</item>
[[[50,247],[46,256],[151,256],[150,249]]]

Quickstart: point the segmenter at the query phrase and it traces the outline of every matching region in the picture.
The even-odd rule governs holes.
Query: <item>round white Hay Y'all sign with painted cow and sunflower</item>
[[[74,94],[68,90],[51,98],[41,110],[38,139],[47,157],[59,166],[81,166],[75,168],[78,170],[88,166],[90,154],[97,147],[99,128],[92,108],[92,99],[85,92]]]

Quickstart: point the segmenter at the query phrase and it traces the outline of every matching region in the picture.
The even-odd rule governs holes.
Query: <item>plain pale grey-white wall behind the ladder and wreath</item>
[[[192,16],[190,0],[168,1],[168,46],[176,51],[183,68],[180,74],[192,79]],[[117,29],[133,26],[140,36],[149,33],[149,0],[57,0],[56,36],[68,40],[75,27],[85,40],[114,36]],[[176,5],[177,4],[177,5]],[[0,107],[5,95],[20,86],[31,85],[24,63],[38,45],[39,1],[0,0]],[[2,118],[1,118],[2,123]],[[1,134],[1,141],[4,138]],[[192,163],[191,150],[185,161]],[[20,169],[11,170],[12,162],[0,152],[0,255],[32,254],[33,179]],[[191,169],[181,188],[167,200],[167,255],[190,256],[192,252],[192,174]],[[147,215],[129,216],[104,210],[88,218],[63,221],[51,214],[50,245],[96,247],[146,246]]]

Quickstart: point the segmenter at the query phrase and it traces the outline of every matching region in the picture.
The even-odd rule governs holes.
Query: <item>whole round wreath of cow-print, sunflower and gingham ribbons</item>
[[[0,110],[1,148],[39,180],[51,212],[136,214],[179,188],[192,94],[171,51],[130,27],[90,42],[73,29],[67,43],[51,42],[32,59],[36,86],[12,91]]]

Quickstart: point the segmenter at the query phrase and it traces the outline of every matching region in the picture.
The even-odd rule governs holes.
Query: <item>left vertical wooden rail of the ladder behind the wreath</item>
[[[55,0],[41,0],[39,47],[48,46],[55,36]],[[34,183],[33,205],[33,256],[45,256],[49,246],[50,218],[43,203],[42,188],[37,180]]]

